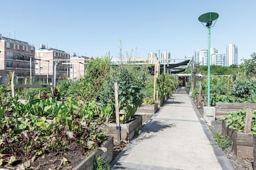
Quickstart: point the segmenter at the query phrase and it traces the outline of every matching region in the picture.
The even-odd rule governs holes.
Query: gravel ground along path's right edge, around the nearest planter
[[[221,123],[222,123],[221,120],[216,120],[214,123],[212,123],[212,126],[208,126],[212,131],[212,134],[215,134],[216,131],[221,132]],[[230,159],[234,169],[237,169],[237,170],[253,169],[252,165],[254,160],[236,157],[236,155],[232,152],[232,146],[225,148],[223,151],[227,155],[227,158]]]

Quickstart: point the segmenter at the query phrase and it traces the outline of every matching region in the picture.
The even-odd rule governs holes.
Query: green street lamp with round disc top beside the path
[[[218,19],[219,15],[215,12],[209,12],[205,13],[201,16],[199,16],[198,20],[204,25],[204,27],[207,27],[208,29],[208,55],[207,55],[207,67],[208,67],[208,73],[207,73],[207,106],[210,107],[210,47],[211,47],[211,27],[213,27],[216,23],[216,19]],[[215,21],[215,22],[213,22]]]

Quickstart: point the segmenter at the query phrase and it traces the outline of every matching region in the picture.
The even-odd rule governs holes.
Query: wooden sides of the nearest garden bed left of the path
[[[113,137],[109,137],[109,140],[105,141],[102,147],[107,148],[107,152],[101,150],[91,153],[87,158],[82,160],[79,165],[74,167],[74,170],[93,170],[94,157],[96,155],[102,156],[105,161],[110,163],[113,159]]]

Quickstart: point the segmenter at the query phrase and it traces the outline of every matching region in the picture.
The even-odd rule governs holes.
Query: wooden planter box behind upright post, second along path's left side
[[[121,126],[121,140],[131,141],[135,132],[139,131],[142,126],[142,116],[138,115],[135,120],[130,121],[129,123],[120,124]],[[107,130],[107,134],[112,136],[114,140],[116,139],[116,123],[109,123],[102,126],[103,130]]]

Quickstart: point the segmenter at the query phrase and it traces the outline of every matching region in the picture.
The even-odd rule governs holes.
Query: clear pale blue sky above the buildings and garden
[[[86,56],[110,50],[117,57],[122,39],[124,55],[170,49],[172,58],[184,58],[207,49],[207,29],[197,18],[217,12],[212,47],[226,53],[227,44],[236,44],[241,60],[256,52],[255,7],[255,0],[1,1],[0,33]]]

